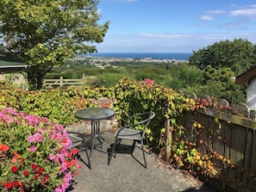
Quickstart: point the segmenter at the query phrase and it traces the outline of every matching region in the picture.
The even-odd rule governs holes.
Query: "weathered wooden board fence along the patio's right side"
[[[199,141],[193,129],[193,120],[203,127]],[[172,125],[166,120],[166,142],[172,139]],[[183,121],[187,138],[197,143],[202,154],[219,154],[230,160],[233,166],[222,167],[222,175],[211,179],[210,184],[224,192],[256,192],[256,121],[231,115],[214,108],[205,108],[197,113],[187,113]],[[170,138],[171,137],[171,138]],[[170,146],[165,146],[166,157]]]

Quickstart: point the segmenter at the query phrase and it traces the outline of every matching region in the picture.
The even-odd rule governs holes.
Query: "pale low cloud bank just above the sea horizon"
[[[247,39],[256,43],[256,33],[127,34],[107,35],[97,44],[98,53],[188,53],[220,40]]]

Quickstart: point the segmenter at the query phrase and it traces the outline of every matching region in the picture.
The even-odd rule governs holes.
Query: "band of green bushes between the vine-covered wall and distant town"
[[[115,86],[122,77],[137,81],[143,81],[149,77],[156,84],[167,88],[183,90],[185,93],[194,92],[197,96],[207,95],[219,99],[224,98],[230,104],[245,102],[246,100],[246,90],[244,87],[234,84],[235,74],[230,67],[215,68],[209,65],[200,70],[197,66],[185,62],[179,62],[176,65],[171,63],[140,63],[138,65],[137,62],[124,62],[120,66],[115,63],[116,68],[110,65],[100,69],[96,66],[84,66],[84,62],[81,60],[69,61],[69,67],[66,65],[66,68],[56,68],[54,69],[56,73],[49,73],[48,77],[53,75],[54,78],[60,76],[81,78],[83,74],[94,76],[86,82],[87,85],[93,88]],[[79,70],[71,71],[73,68]]]

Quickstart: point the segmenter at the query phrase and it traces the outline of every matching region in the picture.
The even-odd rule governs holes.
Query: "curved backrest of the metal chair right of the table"
[[[142,132],[142,136],[144,136],[147,131],[148,124],[152,121],[154,116],[155,113],[152,111],[136,114],[130,116],[124,126],[133,128],[141,126],[142,129],[140,131]]]

